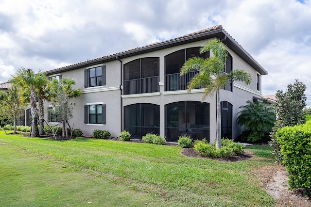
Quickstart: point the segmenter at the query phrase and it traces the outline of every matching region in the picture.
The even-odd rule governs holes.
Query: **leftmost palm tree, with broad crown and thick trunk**
[[[20,68],[17,70],[17,74],[12,76],[10,81],[19,85],[24,92],[30,94],[30,110],[32,115],[32,130],[31,137],[37,137],[39,135],[36,116],[37,116],[37,104],[36,104],[36,92],[42,87],[40,79],[44,76],[41,71],[37,74],[32,69]],[[25,98],[27,100],[27,98]]]

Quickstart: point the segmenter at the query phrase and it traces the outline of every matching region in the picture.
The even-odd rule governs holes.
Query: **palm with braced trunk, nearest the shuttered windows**
[[[67,120],[72,117],[71,108],[68,105],[68,100],[70,98],[78,97],[81,95],[81,88],[72,89],[74,84],[75,81],[72,79],[62,79],[61,81],[58,81],[57,79],[52,80],[53,102],[56,110],[62,117],[63,138],[68,137]]]

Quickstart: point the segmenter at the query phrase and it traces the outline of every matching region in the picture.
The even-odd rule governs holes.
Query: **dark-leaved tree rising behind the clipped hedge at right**
[[[276,131],[282,127],[293,127],[297,124],[305,124],[306,118],[303,110],[306,107],[307,97],[305,95],[306,85],[295,80],[294,84],[287,86],[286,92],[276,92],[276,123],[270,133],[270,145],[274,148],[276,162],[281,163],[283,155],[280,152],[280,145],[276,141]]]

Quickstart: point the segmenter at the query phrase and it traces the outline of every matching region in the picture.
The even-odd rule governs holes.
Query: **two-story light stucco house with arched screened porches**
[[[196,72],[179,75],[188,58],[212,55],[199,53],[199,48],[212,38],[221,39],[228,48],[226,72],[240,68],[252,76],[250,85],[229,83],[220,92],[222,136],[234,139],[241,134],[236,123],[239,107],[247,100],[261,98],[261,76],[267,71],[222,26],[57,68],[46,75],[74,79],[74,87],[82,88],[82,96],[70,100],[74,108],[69,122],[85,134],[106,129],[116,137],[125,129],[137,139],[151,132],[167,141],[177,141],[187,133],[193,139],[206,137],[214,142],[216,96],[202,102],[203,89],[190,94],[186,91]],[[51,112],[45,116],[49,122],[56,122]]]

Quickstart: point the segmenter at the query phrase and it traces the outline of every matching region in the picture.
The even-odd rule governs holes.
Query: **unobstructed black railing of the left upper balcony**
[[[124,80],[124,95],[159,92],[159,76]]]

